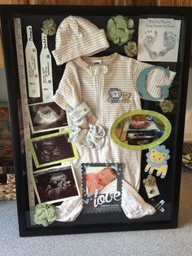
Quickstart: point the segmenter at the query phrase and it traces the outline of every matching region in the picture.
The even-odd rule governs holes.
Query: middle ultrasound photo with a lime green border
[[[74,143],[68,143],[68,131],[30,139],[33,161],[36,167],[50,166],[78,158]]]

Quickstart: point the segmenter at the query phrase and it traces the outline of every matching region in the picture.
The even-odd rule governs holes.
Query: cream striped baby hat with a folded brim
[[[55,51],[57,65],[81,56],[91,56],[109,47],[104,29],[80,16],[69,15],[57,29]]]

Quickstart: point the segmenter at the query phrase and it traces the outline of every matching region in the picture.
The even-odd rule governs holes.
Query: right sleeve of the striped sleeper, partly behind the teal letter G
[[[137,86],[137,77],[145,69],[153,65],[142,63],[138,60],[133,60],[133,84]],[[154,98],[161,97],[161,89],[159,86],[171,86],[172,80],[176,73],[169,71],[169,76],[164,73],[164,70],[160,68],[153,69],[147,75],[146,79],[146,91]]]

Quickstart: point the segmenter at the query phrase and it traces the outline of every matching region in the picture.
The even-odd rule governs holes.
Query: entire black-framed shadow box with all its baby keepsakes
[[[20,236],[177,227],[191,14],[1,7]]]

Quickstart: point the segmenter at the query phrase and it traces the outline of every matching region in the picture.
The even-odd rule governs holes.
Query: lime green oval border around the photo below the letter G
[[[160,121],[162,121],[164,123],[164,135],[162,135],[159,139],[155,140],[154,142],[148,143],[145,145],[138,145],[138,146],[137,145],[128,145],[128,144],[121,142],[120,139],[118,139],[116,136],[116,126],[120,123],[120,121],[123,121],[124,118],[130,117],[133,115],[138,115],[138,114],[151,115],[151,116],[157,117]],[[141,109],[141,110],[129,110],[129,112],[124,113],[123,115],[118,117],[116,119],[116,121],[114,121],[114,123],[111,126],[110,135],[111,135],[111,139],[122,148],[130,149],[130,150],[142,150],[142,149],[151,148],[157,144],[159,145],[160,143],[163,143],[165,139],[168,139],[168,136],[171,134],[171,131],[172,131],[172,126],[171,126],[170,121],[168,121],[167,117],[164,117],[164,115],[157,113],[155,111]]]

